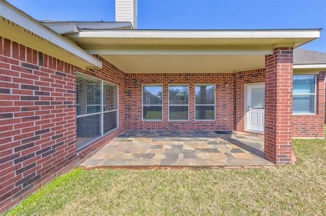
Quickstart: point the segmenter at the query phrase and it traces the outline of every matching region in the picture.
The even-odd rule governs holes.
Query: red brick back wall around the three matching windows
[[[225,83],[229,85],[226,86]],[[195,84],[215,84],[215,121],[195,120]],[[162,84],[163,120],[142,120],[142,84]],[[169,121],[169,84],[189,84],[189,120]],[[127,130],[234,130],[235,82],[233,73],[126,74]]]

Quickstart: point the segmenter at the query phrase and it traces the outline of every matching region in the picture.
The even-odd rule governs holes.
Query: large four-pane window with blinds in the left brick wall
[[[77,73],[77,146],[118,127],[118,87]]]

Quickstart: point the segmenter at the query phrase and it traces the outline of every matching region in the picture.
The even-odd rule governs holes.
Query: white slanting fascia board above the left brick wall
[[[48,40],[51,43],[62,47],[63,49],[71,52],[72,54],[85,59],[92,65],[102,68],[102,61],[90,55],[85,50],[73,44],[66,38],[58,35],[49,28],[45,27],[43,24],[33,19],[29,15],[17,10],[9,3],[3,1],[0,2],[0,15],[16,23],[17,25],[20,25],[21,27],[30,30],[31,32],[37,34],[45,40]]]

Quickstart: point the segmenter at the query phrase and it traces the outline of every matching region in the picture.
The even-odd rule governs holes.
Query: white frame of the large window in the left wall
[[[77,150],[79,150],[79,149],[83,148],[84,146],[90,144],[94,140],[96,140],[96,139],[98,139],[100,137],[103,137],[103,136],[105,136],[105,135],[119,129],[119,85],[114,84],[112,82],[108,82],[108,81],[98,79],[96,77],[90,76],[88,74],[84,74],[84,73],[79,72],[79,71],[76,71],[76,80],[77,80],[77,77],[82,77],[84,79],[92,80],[92,81],[100,81],[100,96],[99,96],[100,97],[100,105],[99,105],[100,106],[100,111],[99,112],[94,112],[94,113],[79,114],[79,115],[77,115],[77,113],[76,113],[76,128],[77,128],[77,119],[78,118],[82,118],[82,117],[86,117],[86,116],[92,116],[92,115],[95,116],[95,115],[100,114],[100,122],[99,122],[99,124],[100,124],[100,135],[97,136],[97,137],[94,137],[93,139],[91,139],[91,140],[89,140],[89,141],[87,141],[85,143],[77,145]],[[116,102],[117,102],[116,107],[117,107],[117,109],[103,111],[103,108],[105,106],[104,100],[103,100],[103,95],[104,95],[104,87],[103,86],[104,86],[104,83],[108,83],[108,84],[113,85],[113,86],[116,87],[116,91],[117,91],[116,92],[116,97],[117,97],[116,98]],[[77,85],[77,82],[76,82],[76,85]],[[86,95],[87,94],[85,94],[85,97],[86,97]],[[86,104],[86,106],[87,106],[87,104]],[[76,92],[76,107],[77,107],[77,92]],[[104,118],[103,118],[103,116],[104,116],[104,113],[109,113],[109,112],[117,112],[117,114],[116,114],[116,119],[117,119],[116,125],[117,126],[115,128],[113,128],[113,129],[111,129],[111,130],[104,133]],[[77,139],[77,134],[76,134],[76,139]]]

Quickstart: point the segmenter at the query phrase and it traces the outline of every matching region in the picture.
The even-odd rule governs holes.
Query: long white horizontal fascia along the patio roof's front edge
[[[284,30],[80,30],[80,38],[319,38],[320,29]]]

